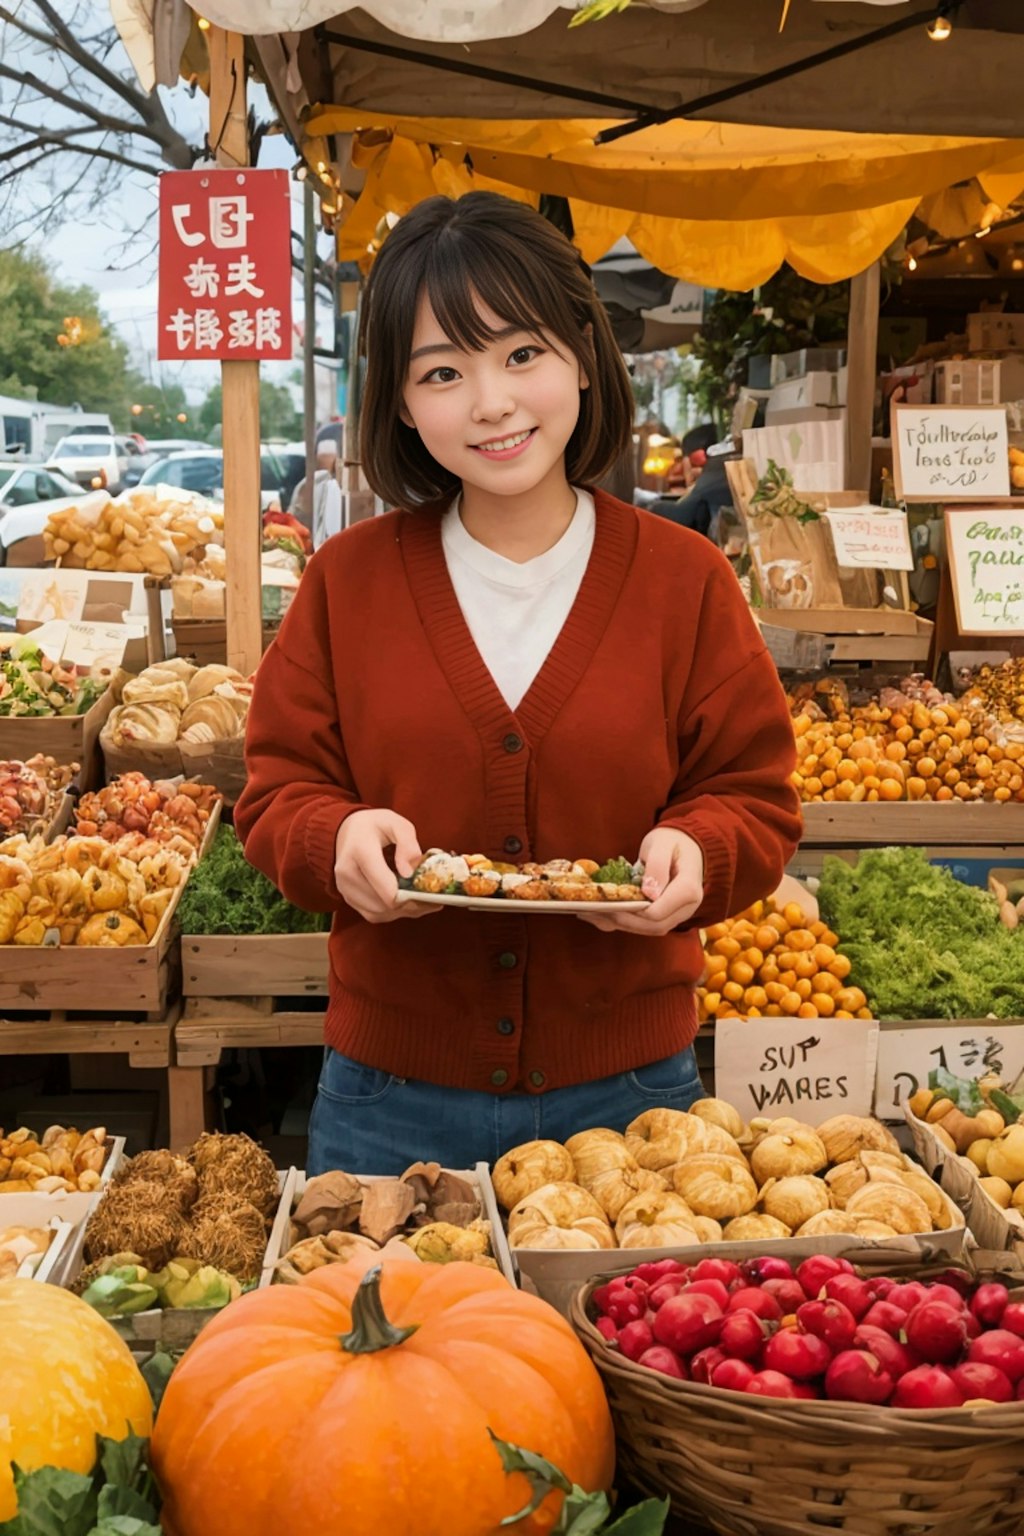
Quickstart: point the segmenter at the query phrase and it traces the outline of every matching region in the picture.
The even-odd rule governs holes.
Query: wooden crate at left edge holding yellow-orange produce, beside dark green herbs
[[[206,823],[200,859],[216,836],[220,817],[218,800]],[[66,1014],[81,1014],[86,1009],[92,1017],[100,1012],[115,1018],[118,1014],[141,1014],[150,1023],[160,1021],[167,1012],[167,1000],[180,974],[175,908],[183,891],[184,882],[175,888],[160,928],[147,945],[126,945],[123,949],[2,945],[0,1025],[9,1012],[20,1017],[31,1014],[37,1020],[49,1015],[55,1021],[64,1021]]]

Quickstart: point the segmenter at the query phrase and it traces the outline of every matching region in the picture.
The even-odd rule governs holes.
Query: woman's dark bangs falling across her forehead
[[[567,295],[554,281],[545,283],[542,270],[527,269],[522,257],[510,260],[502,241],[461,238],[445,230],[430,246],[421,293],[430,300],[438,324],[464,352],[482,352],[502,335],[481,315],[481,304],[505,326],[531,336],[556,336],[580,353],[586,315],[579,316],[576,335],[567,329]]]

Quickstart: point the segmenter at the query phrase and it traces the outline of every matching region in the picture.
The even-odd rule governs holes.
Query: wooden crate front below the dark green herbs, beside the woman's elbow
[[[184,934],[184,997],[325,997],[327,934]]]

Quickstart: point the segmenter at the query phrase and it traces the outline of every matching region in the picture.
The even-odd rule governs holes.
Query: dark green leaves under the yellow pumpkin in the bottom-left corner
[[[0,1536],[160,1536],[160,1493],[149,1441],[97,1436],[91,1473],[60,1467],[14,1468],[18,1513]]]

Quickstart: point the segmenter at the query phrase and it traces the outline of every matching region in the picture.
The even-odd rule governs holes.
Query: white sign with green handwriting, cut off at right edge
[[[1024,507],[947,507],[946,558],[961,634],[1024,634]]]

